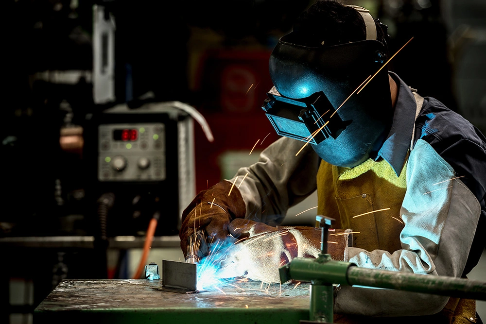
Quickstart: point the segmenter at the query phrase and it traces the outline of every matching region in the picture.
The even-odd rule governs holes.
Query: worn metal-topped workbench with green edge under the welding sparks
[[[231,279],[199,293],[156,290],[162,280],[64,280],[35,308],[36,323],[298,324],[309,284]]]

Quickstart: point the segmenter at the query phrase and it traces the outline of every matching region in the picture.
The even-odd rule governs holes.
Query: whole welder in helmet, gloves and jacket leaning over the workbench
[[[318,230],[278,226],[317,190],[317,214],[354,233],[329,244],[334,259],[466,277],[485,247],[486,138],[387,69],[388,39],[368,10],[335,0],[297,18],[272,52],[274,87],[262,105],[282,137],[184,210],[185,254],[194,231],[208,242],[246,239],[235,244],[244,257],[231,261],[234,274],[278,281],[282,263],[318,253]],[[251,240],[261,233],[275,235]],[[335,289],[334,311],[336,323],[470,323],[477,315],[474,300],[349,286]]]

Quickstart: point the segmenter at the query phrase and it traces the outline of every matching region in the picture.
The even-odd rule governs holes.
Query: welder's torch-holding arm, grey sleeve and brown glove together
[[[310,145],[295,156],[304,144],[282,137],[260,154],[257,163],[241,168],[233,179],[199,192],[182,212],[179,237],[184,256],[198,231],[204,231],[208,242],[216,242],[227,237],[228,224],[237,218],[271,225],[282,222],[290,206],[316,189],[319,157]],[[193,252],[204,256],[208,251]]]

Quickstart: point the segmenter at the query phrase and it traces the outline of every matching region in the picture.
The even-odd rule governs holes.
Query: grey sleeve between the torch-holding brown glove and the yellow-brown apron
[[[239,169],[229,180],[233,182],[238,176],[235,186],[243,196],[246,219],[278,225],[289,207],[315,191],[321,159],[310,144],[297,154],[305,144],[281,137],[260,154],[257,163]]]

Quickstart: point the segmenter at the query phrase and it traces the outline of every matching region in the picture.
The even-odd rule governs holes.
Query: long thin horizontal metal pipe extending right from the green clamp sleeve
[[[347,280],[351,286],[359,285],[486,300],[486,282],[465,278],[350,267],[347,270]]]

